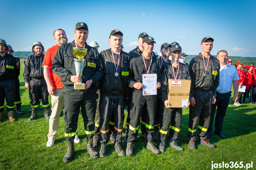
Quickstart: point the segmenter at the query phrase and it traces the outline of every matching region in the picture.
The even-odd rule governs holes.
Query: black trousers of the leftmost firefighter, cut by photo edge
[[[12,111],[15,108],[15,81],[0,80],[0,112],[4,111],[4,98],[6,101],[6,110]]]

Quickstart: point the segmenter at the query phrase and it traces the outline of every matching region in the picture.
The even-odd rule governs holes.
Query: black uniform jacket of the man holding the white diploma
[[[150,59],[151,60],[151,59]],[[147,69],[149,66],[147,66]],[[157,74],[157,83],[161,83],[161,72],[163,70],[163,63],[152,57],[152,63],[150,66],[149,74]],[[147,70],[144,64],[143,56],[140,54],[138,57],[131,59],[130,61],[130,72],[127,84],[130,88],[133,88],[133,85],[136,82],[142,83],[142,74],[147,74]],[[162,84],[162,83],[161,83]],[[140,90],[135,89],[135,91],[140,91],[142,93],[142,88]]]

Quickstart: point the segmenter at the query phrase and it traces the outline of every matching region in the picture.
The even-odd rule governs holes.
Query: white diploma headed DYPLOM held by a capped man
[[[156,83],[157,83],[157,74],[143,74],[142,75],[142,84],[144,85],[144,88],[142,88],[142,95],[156,95],[157,89],[156,89]]]

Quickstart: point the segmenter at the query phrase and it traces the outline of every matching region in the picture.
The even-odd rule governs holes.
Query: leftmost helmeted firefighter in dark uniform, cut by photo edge
[[[15,122],[16,119],[13,116],[15,108],[15,77],[20,72],[20,67],[17,59],[8,54],[7,43],[0,39],[0,121],[3,120],[4,111],[4,98],[6,101],[8,119],[11,122]]]

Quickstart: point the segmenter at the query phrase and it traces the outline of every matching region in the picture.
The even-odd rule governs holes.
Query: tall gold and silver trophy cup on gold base
[[[75,64],[75,69],[76,69],[76,74],[77,76],[82,77],[82,72],[84,69],[84,64],[85,64],[85,59],[82,59],[86,56],[87,54],[87,48],[73,48],[73,54],[76,56],[74,58],[74,64]],[[84,90],[85,89],[85,83],[79,82],[79,83],[74,83],[74,89],[80,89]]]

